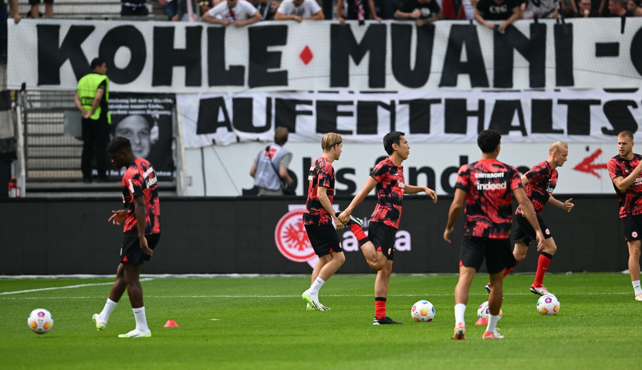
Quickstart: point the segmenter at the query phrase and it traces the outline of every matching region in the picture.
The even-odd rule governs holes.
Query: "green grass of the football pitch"
[[[100,312],[110,285],[0,295],[0,362],[3,369],[443,369],[473,367],[632,369],[639,366],[639,317],[629,275],[553,274],[546,286],[561,302],[560,314],[542,316],[530,293],[532,275],[505,280],[505,339],[482,341],[475,326],[487,300],[484,276],[473,281],[466,310],[467,340],[451,341],[456,276],[395,275],[387,312],[403,325],[373,326],[372,275],[334,276],[320,301],[332,310],[306,311],[300,293],[309,277],[154,278],[143,282],[153,337],[120,339],[134,315],[121,299],[105,332],[91,315]],[[0,292],[110,279],[0,280]],[[415,323],[410,308],[428,299],[437,315]],[[51,332],[32,333],[33,308],[55,318]],[[180,327],[162,328],[174,319]],[[213,321],[211,319],[218,319]]]

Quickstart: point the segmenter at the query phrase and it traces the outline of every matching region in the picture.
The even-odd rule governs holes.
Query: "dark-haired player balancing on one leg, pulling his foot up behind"
[[[403,166],[401,163],[408,159],[410,146],[403,132],[392,131],[383,138],[383,147],[390,157],[379,162],[370,173],[363,189],[339,215],[342,223],[349,224],[350,230],[361,246],[361,251],[372,269],[377,271],[374,281],[374,321],[373,324],[401,324],[386,315],[386,298],[388,297],[388,281],[392,273],[392,258],[395,251],[395,234],[399,228],[401,203],[403,194],[426,192],[434,202],[437,194],[427,187],[416,187],[404,183]],[[368,236],[361,226],[351,222],[352,210],[365,199],[376,187],[377,203],[370,224]],[[354,220],[354,219],[352,219]]]

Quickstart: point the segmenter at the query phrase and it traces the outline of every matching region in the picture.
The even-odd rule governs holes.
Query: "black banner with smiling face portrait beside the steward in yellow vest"
[[[173,178],[171,151],[173,94],[110,94],[109,112],[112,124],[110,139],[126,137],[132,142],[134,155],[150,161],[159,180]],[[125,169],[108,165],[108,176],[120,179]]]

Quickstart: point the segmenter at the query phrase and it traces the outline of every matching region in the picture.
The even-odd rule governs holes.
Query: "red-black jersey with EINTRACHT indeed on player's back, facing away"
[[[519,171],[498,160],[462,165],[455,188],[466,192],[464,235],[508,239],[513,213],[510,193],[520,187]]]

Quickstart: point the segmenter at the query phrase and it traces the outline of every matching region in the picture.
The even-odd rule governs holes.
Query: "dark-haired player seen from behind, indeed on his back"
[[[464,240],[460,252],[459,282],[455,287],[455,333],[453,339],[466,339],[464,313],[468,303],[468,290],[476,271],[486,258],[490,275],[489,321],[483,339],[503,338],[497,328],[499,310],[503,299],[504,270],[515,264],[510,253],[510,224],[512,202],[510,193],[515,195],[524,217],[535,230],[537,250],[544,247],[544,235],[537,223],[535,210],[524,192],[515,167],[497,160],[501,135],[495,130],[485,130],[477,137],[482,149],[482,159],[465,164],[457,172],[455,199],[448,212],[448,223],[444,240],[450,243],[455,221],[462,208],[465,214]]]

